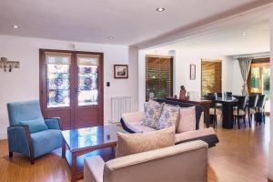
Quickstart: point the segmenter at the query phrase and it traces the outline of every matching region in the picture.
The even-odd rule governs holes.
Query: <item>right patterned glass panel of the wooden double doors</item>
[[[98,104],[98,56],[77,55],[78,106]]]

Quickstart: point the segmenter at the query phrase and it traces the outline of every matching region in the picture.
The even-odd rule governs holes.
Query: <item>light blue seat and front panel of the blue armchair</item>
[[[61,131],[47,129],[30,135],[33,142],[34,156],[39,157],[62,146]]]

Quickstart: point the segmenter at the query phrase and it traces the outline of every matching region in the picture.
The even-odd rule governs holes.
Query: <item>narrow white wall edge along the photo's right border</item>
[[[268,178],[273,180],[273,7],[270,11],[270,141],[268,148]]]

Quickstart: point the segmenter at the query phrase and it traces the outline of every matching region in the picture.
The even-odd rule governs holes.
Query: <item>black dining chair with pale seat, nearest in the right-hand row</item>
[[[233,116],[235,116],[235,123],[236,123],[236,117],[238,118],[238,128],[240,128],[240,117],[243,118],[245,127],[246,126],[246,106],[247,106],[247,96],[238,96],[238,103],[233,109]]]

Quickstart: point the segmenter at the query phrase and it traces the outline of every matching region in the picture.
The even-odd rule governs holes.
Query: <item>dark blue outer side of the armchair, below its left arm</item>
[[[32,140],[27,125],[7,127],[7,139],[9,152],[19,152],[27,157],[32,157]]]

